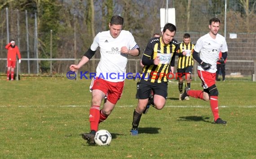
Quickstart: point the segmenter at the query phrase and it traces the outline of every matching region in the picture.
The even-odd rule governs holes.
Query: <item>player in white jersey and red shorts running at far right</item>
[[[186,96],[191,96],[205,101],[210,100],[210,106],[216,124],[225,125],[227,122],[222,120],[219,116],[218,108],[218,90],[215,85],[216,79],[216,63],[224,63],[227,58],[228,47],[223,36],[218,34],[221,21],[218,18],[212,18],[209,21],[210,32],[198,39],[194,46],[193,57],[199,62],[198,76],[203,84],[202,90],[190,90],[189,87],[181,95],[181,100]],[[221,60],[219,59],[219,52],[222,52]],[[200,52],[200,57],[199,57]]]

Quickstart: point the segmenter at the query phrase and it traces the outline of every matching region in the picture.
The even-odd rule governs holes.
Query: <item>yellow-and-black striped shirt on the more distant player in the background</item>
[[[192,56],[192,52],[194,49],[194,43],[190,42],[188,45],[185,45],[184,42],[178,43],[177,53],[176,55],[179,56],[178,58],[178,65],[177,69],[184,69],[188,66],[193,66],[194,60]],[[187,55],[183,55],[182,52],[187,52]]]

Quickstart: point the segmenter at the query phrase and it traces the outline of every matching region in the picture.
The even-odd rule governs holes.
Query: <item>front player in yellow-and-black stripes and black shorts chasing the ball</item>
[[[146,113],[152,105],[156,109],[162,109],[167,98],[168,73],[174,69],[177,40],[173,39],[176,33],[176,26],[167,23],[163,27],[161,37],[150,39],[142,56],[144,65],[141,79],[137,83],[138,99],[137,107],[133,112],[132,135],[138,135],[138,125],[142,113]],[[171,66],[171,67],[170,67]],[[154,97],[150,98],[151,91]]]

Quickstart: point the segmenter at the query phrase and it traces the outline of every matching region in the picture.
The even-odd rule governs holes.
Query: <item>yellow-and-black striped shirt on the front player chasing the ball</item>
[[[170,43],[165,45],[162,42],[162,37],[150,39],[147,44],[143,56],[148,56],[150,59],[160,58],[158,65],[145,65],[141,73],[141,78],[152,83],[168,82],[168,73],[171,66],[175,65],[175,52],[178,42],[172,39]]]

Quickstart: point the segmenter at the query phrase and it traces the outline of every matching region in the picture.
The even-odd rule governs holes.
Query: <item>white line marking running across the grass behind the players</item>
[[[13,106],[4,106],[1,105],[0,107],[13,107]],[[16,107],[16,106],[14,106]],[[66,106],[55,106],[55,105],[42,105],[42,106],[18,106],[18,107],[90,107],[89,105],[66,105]],[[115,106],[115,107],[136,107],[135,105],[124,105],[124,106]],[[185,105],[166,105],[164,107],[201,107],[201,108],[208,108],[210,106],[185,106]],[[230,106],[219,106],[219,107],[230,107]],[[244,107],[244,108],[254,108],[256,105],[249,105],[249,106],[232,106],[232,107]]]

